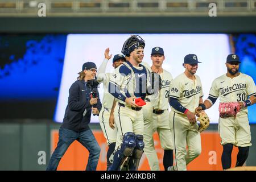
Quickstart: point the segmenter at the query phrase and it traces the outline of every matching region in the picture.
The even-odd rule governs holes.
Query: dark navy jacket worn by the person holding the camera
[[[68,105],[65,110],[63,124],[65,129],[81,132],[89,129],[92,105],[90,105],[90,92],[92,89],[85,85],[84,80],[75,81],[69,89]],[[101,101],[97,90],[98,103],[96,107],[101,110]],[[86,109],[85,115],[83,115]]]

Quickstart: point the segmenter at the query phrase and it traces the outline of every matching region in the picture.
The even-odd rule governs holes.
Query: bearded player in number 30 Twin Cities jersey
[[[256,102],[256,86],[253,78],[238,72],[240,63],[238,55],[228,55],[227,73],[212,82],[208,99],[196,108],[196,114],[199,114],[201,110],[209,109],[218,97],[220,97],[220,103],[238,102],[240,105],[241,110],[236,117],[219,118],[218,131],[223,146],[221,156],[223,169],[231,167],[233,146],[238,147],[239,150],[236,167],[245,163],[249,154],[249,146],[251,146],[247,107]]]

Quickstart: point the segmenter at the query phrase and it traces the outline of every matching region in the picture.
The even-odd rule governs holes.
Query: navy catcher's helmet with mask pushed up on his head
[[[139,35],[131,35],[129,39],[123,43],[122,53],[126,56],[130,56],[138,47],[145,47],[145,41]]]

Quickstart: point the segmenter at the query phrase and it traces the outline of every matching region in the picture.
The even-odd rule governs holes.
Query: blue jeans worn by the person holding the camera
[[[88,163],[85,170],[96,171],[101,148],[92,131],[86,130],[81,133],[77,133],[76,131],[65,129],[63,127],[60,127],[59,142],[49,161],[46,169],[47,171],[55,171],[57,169],[60,159],[63,157],[71,143],[75,140],[79,141],[89,151]]]

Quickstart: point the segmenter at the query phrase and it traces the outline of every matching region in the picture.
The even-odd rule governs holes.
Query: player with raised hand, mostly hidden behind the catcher
[[[110,110],[112,108],[112,104],[114,101],[114,97],[112,94],[108,92],[109,87],[109,80],[110,80],[110,74],[112,73],[105,73],[106,71],[106,65],[108,64],[109,59],[111,59],[112,55],[109,55],[109,48],[105,50],[105,59],[102,61],[102,64],[100,65],[100,68],[97,72],[97,81],[102,82],[104,84],[104,97],[102,102],[102,109],[99,114],[100,119],[100,125],[101,129],[103,131],[104,137],[106,138],[108,142],[108,152],[107,152],[107,170],[110,166],[110,155],[114,152],[115,149],[115,143],[117,138],[117,129],[113,128],[111,129],[109,127],[109,116],[110,116]],[[123,63],[125,60],[125,56],[122,54],[115,55],[113,58],[113,67],[117,68],[120,64]]]

